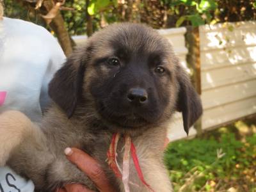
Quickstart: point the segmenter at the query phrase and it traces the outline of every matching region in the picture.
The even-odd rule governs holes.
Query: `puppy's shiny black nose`
[[[131,88],[127,93],[127,99],[134,104],[145,104],[148,100],[148,93],[143,88]]]

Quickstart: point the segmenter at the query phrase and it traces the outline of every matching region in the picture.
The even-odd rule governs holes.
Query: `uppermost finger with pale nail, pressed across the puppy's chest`
[[[88,154],[77,148],[66,148],[67,159],[76,164],[77,167],[95,183],[99,191],[115,191],[106,179],[106,175],[100,164]]]

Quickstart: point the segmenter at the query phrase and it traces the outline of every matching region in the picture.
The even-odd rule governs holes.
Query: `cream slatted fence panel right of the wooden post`
[[[200,26],[202,129],[256,113],[256,22]]]

